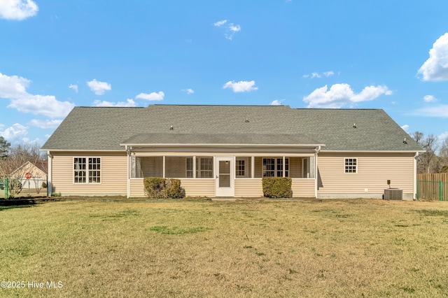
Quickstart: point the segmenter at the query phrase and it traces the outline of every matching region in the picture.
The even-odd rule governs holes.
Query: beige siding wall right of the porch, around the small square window
[[[357,173],[345,173],[344,159],[357,158]],[[331,153],[318,155],[318,194],[382,194],[391,187],[414,192],[412,153]],[[367,192],[365,191],[367,190]]]

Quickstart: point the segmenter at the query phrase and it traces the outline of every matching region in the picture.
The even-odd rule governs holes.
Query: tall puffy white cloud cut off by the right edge
[[[448,33],[440,36],[429,50],[429,58],[420,67],[423,80],[448,80]]]

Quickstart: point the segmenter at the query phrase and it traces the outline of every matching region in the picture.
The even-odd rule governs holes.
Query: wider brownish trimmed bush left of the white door
[[[151,199],[181,199],[185,197],[185,189],[181,180],[158,177],[144,178],[146,195]]]

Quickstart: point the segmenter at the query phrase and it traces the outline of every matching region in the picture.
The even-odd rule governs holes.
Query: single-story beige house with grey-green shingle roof
[[[191,197],[262,197],[263,177],[290,177],[293,197],[322,199],[413,199],[423,152],[381,109],[207,105],[76,107],[41,150],[62,195],[144,197],[163,177]]]

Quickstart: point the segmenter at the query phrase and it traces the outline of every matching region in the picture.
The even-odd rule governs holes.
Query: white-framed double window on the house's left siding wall
[[[101,157],[74,157],[73,183],[101,183]]]

